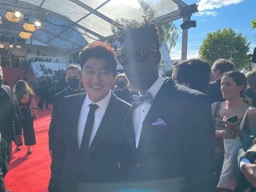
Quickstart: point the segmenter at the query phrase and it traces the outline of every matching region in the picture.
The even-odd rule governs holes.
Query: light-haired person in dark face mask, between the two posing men
[[[125,100],[128,103],[132,103],[131,97],[130,97],[130,91],[128,89],[128,79],[125,76],[125,74],[119,74],[115,78],[115,83],[116,83],[116,90],[115,90],[115,95],[119,97],[122,100]]]

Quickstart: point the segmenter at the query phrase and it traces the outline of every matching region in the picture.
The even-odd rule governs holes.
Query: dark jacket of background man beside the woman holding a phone
[[[211,104],[214,102],[224,101],[221,90],[220,90],[220,86],[221,86],[220,82],[221,82],[221,79],[217,79],[216,81],[211,82],[209,84],[209,88],[206,94],[210,97]]]

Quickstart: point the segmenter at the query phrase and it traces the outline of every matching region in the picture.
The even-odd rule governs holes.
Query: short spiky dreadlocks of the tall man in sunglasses
[[[118,29],[115,33],[116,40],[122,45],[127,38],[131,36],[144,36],[148,40],[154,42],[157,50],[161,45],[162,37],[159,35],[159,30],[156,27],[154,20],[148,19],[147,16],[143,16],[144,20],[141,23],[130,22],[129,24],[123,24],[122,26],[114,26]]]

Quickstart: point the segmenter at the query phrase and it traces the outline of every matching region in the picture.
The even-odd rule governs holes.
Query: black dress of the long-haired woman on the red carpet
[[[35,145],[36,144],[36,136],[34,130],[34,116],[30,107],[31,95],[29,95],[29,100],[26,103],[22,103],[19,100],[20,111],[22,113],[22,121],[20,125],[23,129],[23,136],[25,145]]]

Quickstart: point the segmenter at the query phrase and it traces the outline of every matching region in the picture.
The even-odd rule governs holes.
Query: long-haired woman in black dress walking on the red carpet
[[[36,113],[34,95],[35,93],[26,81],[17,81],[15,84],[15,98],[17,99],[17,102],[19,102],[20,111],[22,113],[20,125],[23,129],[24,143],[28,146],[28,154],[32,153],[31,145],[36,144],[33,120],[38,116]],[[19,146],[16,147],[16,150],[20,150]]]

